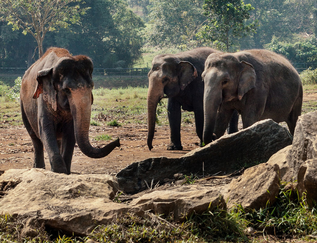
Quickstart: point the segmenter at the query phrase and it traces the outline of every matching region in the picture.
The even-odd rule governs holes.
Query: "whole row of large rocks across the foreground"
[[[24,224],[22,237],[26,237],[35,235],[42,225],[63,233],[87,235],[96,225],[109,224],[123,213],[141,216],[150,210],[182,221],[193,213],[235,204],[246,211],[259,209],[275,202],[280,181],[292,183],[313,204],[317,200],[315,120],[317,112],[299,118],[292,145],[285,128],[264,120],[178,159],[160,157],[133,163],[116,177],[67,176],[43,169],[0,171],[0,212],[19,217]],[[246,169],[225,187],[179,186],[142,195],[130,204],[115,202],[119,189],[142,190],[144,180],[198,173],[202,162],[207,173],[230,172],[236,163],[250,160],[268,162]]]

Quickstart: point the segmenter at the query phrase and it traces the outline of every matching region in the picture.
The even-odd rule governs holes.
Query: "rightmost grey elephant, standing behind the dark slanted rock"
[[[269,50],[213,53],[205,62],[204,144],[223,136],[234,110],[243,129],[263,119],[286,121],[294,135],[303,87],[292,64]],[[214,139],[213,139],[213,136]]]

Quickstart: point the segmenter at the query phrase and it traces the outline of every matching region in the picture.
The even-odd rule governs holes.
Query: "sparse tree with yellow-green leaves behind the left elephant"
[[[67,28],[78,23],[80,15],[89,8],[80,8],[81,0],[1,0],[0,20],[31,34],[38,44],[39,57],[43,55],[43,40],[48,31]],[[1,16],[2,15],[2,16]]]

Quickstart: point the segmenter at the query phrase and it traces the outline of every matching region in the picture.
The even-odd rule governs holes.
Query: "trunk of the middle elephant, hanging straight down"
[[[159,100],[164,95],[164,87],[157,92],[154,90],[153,85],[149,85],[149,90],[147,92],[147,146],[149,150],[153,148],[152,141],[155,132],[155,122],[156,122],[156,108]]]

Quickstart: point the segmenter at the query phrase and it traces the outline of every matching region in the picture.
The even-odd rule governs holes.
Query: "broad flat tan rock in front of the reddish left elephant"
[[[23,237],[35,235],[42,224],[63,233],[87,235],[96,225],[111,223],[129,210],[112,201],[118,190],[113,176],[65,175],[45,169],[1,173],[0,212],[24,219]]]

